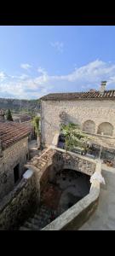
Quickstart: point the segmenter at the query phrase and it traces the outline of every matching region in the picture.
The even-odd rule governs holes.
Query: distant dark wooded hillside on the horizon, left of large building
[[[40,113],[40,100],[18,100],[0,98],[0,108],[10,109],[12,113]]]

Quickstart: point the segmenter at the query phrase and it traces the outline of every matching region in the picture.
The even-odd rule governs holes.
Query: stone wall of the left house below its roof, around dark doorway
[[[14,143],[2,153],[3,156],[0,157],[0,199],[14,188],[14,166],[20,164],[20,178],[22,177],[26,154],[28,154],[28,137]]]

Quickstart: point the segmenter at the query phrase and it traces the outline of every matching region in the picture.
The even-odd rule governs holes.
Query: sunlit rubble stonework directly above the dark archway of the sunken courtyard
[[[48,148],[40,157],[35,156],[26,165],[26,168],[31,168],[36,172],[37,183],[42,180],[42,187],[48,178],[53,181],[56,173],[62,169],[71,169],[91,176],[95,172],[95,167],[95,160],[53,146]]]

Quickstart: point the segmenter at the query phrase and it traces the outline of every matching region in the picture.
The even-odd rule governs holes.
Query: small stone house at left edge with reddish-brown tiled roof
[[[29,133],[25,125],[0,122],[0,199],[14,188],[24,173]]]

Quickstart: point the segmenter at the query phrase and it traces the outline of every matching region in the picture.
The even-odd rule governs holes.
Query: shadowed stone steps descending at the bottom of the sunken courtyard
[[[45,205],[34,214],[33,218],[28,218],[27,221],[20,227],[20,230],[42,230],[50,220],[51,209]]]

